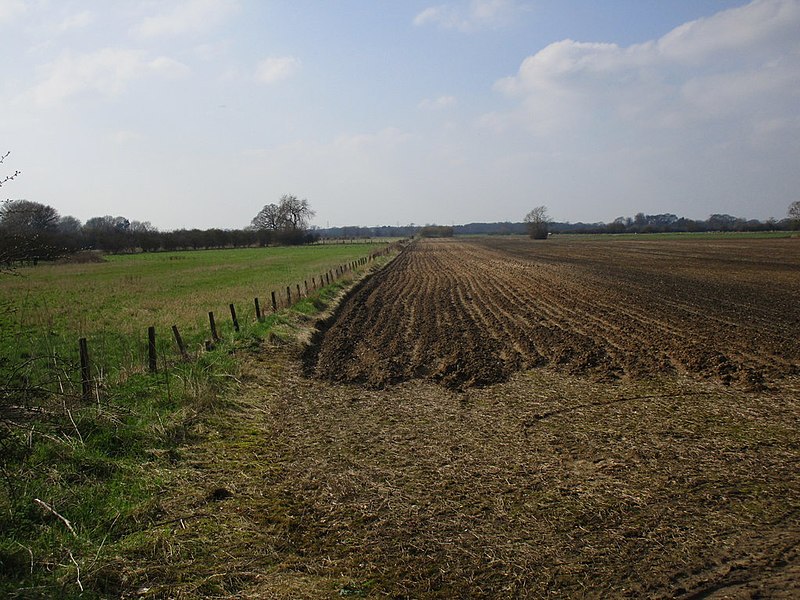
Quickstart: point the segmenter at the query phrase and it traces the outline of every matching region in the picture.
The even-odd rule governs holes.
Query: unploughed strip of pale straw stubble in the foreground
[[[173,595],[666,597],[797,542],[796,398],[546,370],[365,390],[305,378],[297,352],[252,358],[187,449]]]

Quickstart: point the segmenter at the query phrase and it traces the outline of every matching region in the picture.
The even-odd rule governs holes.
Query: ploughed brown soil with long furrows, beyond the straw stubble
[[[800,243],[429,240],[341,307],[320,377],[463,389],[544,365],[750,389],[800,372]]]

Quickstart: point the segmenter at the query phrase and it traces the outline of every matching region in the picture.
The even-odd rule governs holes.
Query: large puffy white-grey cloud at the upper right
[[[800,101],[797,31],[798,0],[756,0],[626,48],[556,42],[496,82],[519,108],[484,121],[546,135],[782,118]]]

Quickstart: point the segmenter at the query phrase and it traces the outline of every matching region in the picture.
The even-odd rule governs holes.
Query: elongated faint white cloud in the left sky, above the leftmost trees
[[[88,54],[65,52],[40,72],[41,81],[32,90],[33,100],[40,106],[52,106],[85,91],[115,96],[147,74],[179,77],[188,72],[188,67],[163,56],[149,59],[139,50],[104,48]]]

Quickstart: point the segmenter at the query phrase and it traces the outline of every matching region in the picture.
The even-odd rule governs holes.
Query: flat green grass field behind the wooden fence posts
[[[270,295],[312,286],[312,277],[368,255],[384,244],[336,244],[202,250],[108,256],[102,263],[46,264],[0,277],[0,300],[12,309],[0,336],[0,355],[77,356],[86,337],[96,368],[106,373],[143,364],[147,328],[171,343],[177,325],[187,345],[209,338],[208,313],[221,332],[232,328],[229,305],[242,324],[264,312]],[[11,335],[9,335],[11,334]]]

